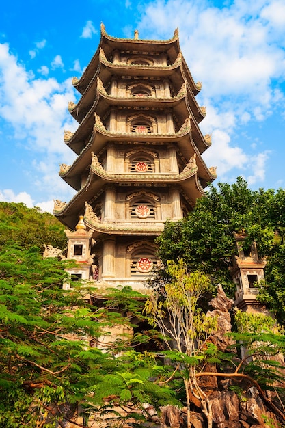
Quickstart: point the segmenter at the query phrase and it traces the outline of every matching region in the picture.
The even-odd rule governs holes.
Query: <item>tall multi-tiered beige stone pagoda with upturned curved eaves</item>
[[[64,142],[77,159],[59,175],[77,193],[54,209],[71,230],[68,258],[79,260],[78,278],[141,289],[158,263],[154,239],[166,219],[187,215],[216,178],[201,156],[211,145],[199,129],[201,84],[178,31],[170,40],[140,40],[137,31],[123,39],[103,25],[94,57],[72,83],[81,98],[68,110],[79,126]]]

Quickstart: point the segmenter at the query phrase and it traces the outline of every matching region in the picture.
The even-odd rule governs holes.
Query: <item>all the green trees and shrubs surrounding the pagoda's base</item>
[[[243,230],[245,247],[255,240],[259,255],[267,255],[260,299],[284,321],[284,205],[284,191],[251,191],[242,178],[210,187],[193,213],[167,223],[158,239],[165,271],[143,312],[146,297],[128,287],[100,299],[81,282],[64,290],[70,262],[41,255],[44,244],[66,246],[63,226],[38,209],[1,202],[0,427],[53,428],[77,420],[84,428],[91,415],[98,423],[104,418],[105,427],[151,426],[170,404],[187,407],[189,427],[193,407],[202,409],[210,428],[205,377],[230,379],[241,396],[241,380],[245,389],[255,386],[284,423],[265,394],[284,392],[275,358],[284,353],[284,336],[271,319],[238,313],[234,348],[221,351],[212,340],[217,318],[204,310],[218,283],[233,291],[232,232]],[[114,326],[118,336],[108,338]]]

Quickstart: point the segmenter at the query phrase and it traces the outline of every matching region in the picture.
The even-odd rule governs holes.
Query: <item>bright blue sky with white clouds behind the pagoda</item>
[[[285,187],[284,0],[4,2],[0,15],[0,200],[53,209],[74,191],[58,176],[74,154],[68,101],[97,49],[100,23],[116,37],[169,39],[180,47],[212,134],[208,166],[218,180],[244,176],[252,189]]]

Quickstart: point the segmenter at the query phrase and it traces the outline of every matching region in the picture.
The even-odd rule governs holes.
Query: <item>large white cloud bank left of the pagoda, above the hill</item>
[[[74,191],[58,176],[58,164],[70,164],[75,157],[63,142],[64,129],[74,131],[78,126],[67,108],[68,101],[74,101],[71,79],[63,83],[35,79],[18,64],[8,44],[0,44],[0,75],[0,118],[14,129],[14,144],[25,142],[25,149],[34,153],[35,161],[25,164],[25,174],[35,192],[40,189],[46,198],[73,196]],[[23,202],[31,204],[23,195]]]

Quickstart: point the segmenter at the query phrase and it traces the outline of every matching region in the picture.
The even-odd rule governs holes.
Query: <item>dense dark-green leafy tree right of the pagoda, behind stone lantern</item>
[[[205,198],[179,222],[167,222],[157,239],[159,257],[185,261],[190,271],[199,270],[222,284],[233,297],[230,276],[232,256],[236,254],[234,232],[244,232],[244,248],[256,241],[258,255],[267,257],[266,282],[260,299],[269,304],[278,320],[285,321],[285,191],[252,191],[243,178],[229,185],[210,186]]]

